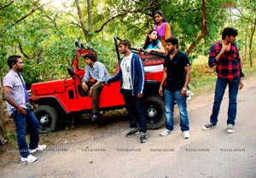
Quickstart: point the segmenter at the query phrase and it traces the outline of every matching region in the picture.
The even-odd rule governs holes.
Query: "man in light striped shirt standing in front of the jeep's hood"
[[[32,163],[38,158],[32,156],[31,152],[43,151],[46,146],[38,145],[39,123],[32,106],[28,104],[25,82],[20,74],[24,68],[23,61],[20,55],[11,55],[7,63],[10,70],[3,78],[4,98],[7,100],[9,115],[15,121],[20,160]],[[30,132],[29,149],[26,144],[26,126]]]

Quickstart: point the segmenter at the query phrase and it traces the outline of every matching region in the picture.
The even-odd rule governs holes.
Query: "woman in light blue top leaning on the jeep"
[[[144,49],[144,53],[142,52]],[[143,48],[138,47],[139,55],[147,55],[150,54],[151,51],[156,53],[165,54],[166,51],[158,38],[158,34],[156,30],[151,30],[148,32]]]

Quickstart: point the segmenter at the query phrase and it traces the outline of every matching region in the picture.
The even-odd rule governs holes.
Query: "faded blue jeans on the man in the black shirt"
[[[181,91],[169,91],[165,89],[165,106],[166,106],[166,129],[173,130],[173,107],[175,100],[180,115],[180,127],[182,131],[189,130],[189,117],[187,112],[187,97],[181,95]]]

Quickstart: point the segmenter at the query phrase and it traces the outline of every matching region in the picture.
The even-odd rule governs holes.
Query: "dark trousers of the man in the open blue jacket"
[[[130,118],[130,127],[137,128],[138,124],[140,132],[147,132],[147,118],[143,108],[143,100],[138,99],[137,95],[132,95],[132,90],[130,89],[122,89],[122,93]]]

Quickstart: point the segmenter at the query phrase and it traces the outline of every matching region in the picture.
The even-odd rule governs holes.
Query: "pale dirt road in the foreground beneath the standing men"
[[[148,142],[125,138],[127,119],[75,129],[73,140],[62,139],[45,152],[37,152],[34,164],[1,168],[4,178],[225,178],[256,177],[256,80],[245,81],[238,95],[236,130],[226,134],[227,96],[219,113],[218,127],[203,131],[212,110],[213,95],[189,100],[190,139],[184,140],[175,118],[172,135],[148,130]],[[11,159],[11,158],[10,158]]]

